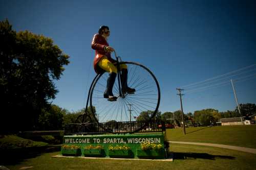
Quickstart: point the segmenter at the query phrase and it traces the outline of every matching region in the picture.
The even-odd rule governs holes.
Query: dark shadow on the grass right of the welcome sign
[[[175,152],[174,159],[209,159],[216,160],[217,159],[236,159],[236,157],[225,156],[225,155],[210,155],[206,153],[182,153]]]

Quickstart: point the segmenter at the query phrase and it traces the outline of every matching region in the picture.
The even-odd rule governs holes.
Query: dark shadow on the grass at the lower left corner
[[[60,147],[15,148],[0,151],[0,165],[14,165],[45,153],[58,152]]]

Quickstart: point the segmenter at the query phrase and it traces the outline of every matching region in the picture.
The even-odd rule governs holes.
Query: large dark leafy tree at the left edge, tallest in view
[[[8,20],[0,21],[0,94],[3,132],[33,130],[48,101],[58,92],[69,56],[53,40],[29,31],[16,33]],[[17,128],[17,129],[16,129]]]

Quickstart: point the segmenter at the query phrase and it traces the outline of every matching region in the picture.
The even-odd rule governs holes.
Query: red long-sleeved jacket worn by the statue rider
[[[111,58],[110,53],[107,53],[104,51],[105,46],[109,46],[109,43],[106,42],[106,39],[103,36],[101,36],[100,34],[95,34],[93,37],[93,40],[92,40],[92,48],[93,48],[93,50],[95,50],[93,66],[94,66],[94,70],[97,74],[102,72],[102,69],[97,64],[103,56],[106,56],[106,58],[108,58],[108,60],[110,60],[110,62],[115,61]]]

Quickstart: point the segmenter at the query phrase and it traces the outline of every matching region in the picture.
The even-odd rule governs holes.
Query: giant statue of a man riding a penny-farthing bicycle
[[[96,52],[94,69],[98,74],[90,86],[86,113],[80,115],[76,123],[97,122],[105,131],[127,132],[127,126],[120,128],[120,122],[135,122],[141,112],[151,111],[144,123],[129,125],[130,133],[140,131],[158,111],[160,89],[157,79],[145,66],[121,61],[106,41],[110,36],[108,26],[101,26],[98,33],[92,41]],[[111,58],[111,52],[116,60]],[[113,132],[113,128],[103,124],[108,122],[118,123],[119,130]]]

